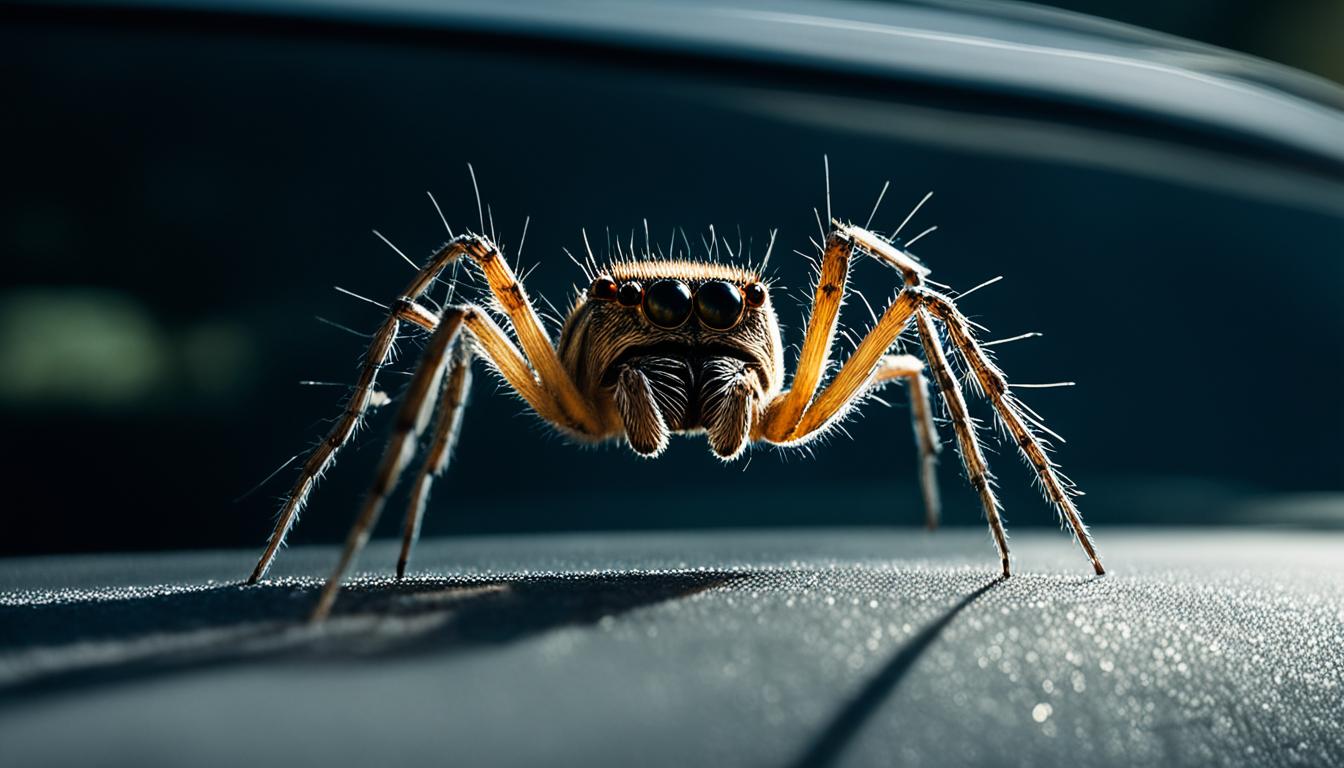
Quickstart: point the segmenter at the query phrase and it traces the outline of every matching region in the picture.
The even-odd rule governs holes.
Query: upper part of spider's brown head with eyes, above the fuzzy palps
[[[610,385],[641,356],[742,360],[765,393],[781,386],[784,352],[770,291],[755,273],[695,261],[612,264],[564,324],[560,355],[581,389]]]

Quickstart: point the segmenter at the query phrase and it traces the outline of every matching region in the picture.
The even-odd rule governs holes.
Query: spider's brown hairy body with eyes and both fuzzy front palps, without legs
[[[735,459],[784,385],[780,324],[761,277],[720,264],[642,261],[599,270],[570,312],[559,354],[579,393],[632,449],[704,430]]]

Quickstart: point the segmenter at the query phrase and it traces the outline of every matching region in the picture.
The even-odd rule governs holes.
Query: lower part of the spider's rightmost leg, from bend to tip
[[[974,335],[970,332],[970,321],[966,320],[965,315],[949,299],[937,293],[930,293],[927,307],[946,325],[952,343],[956,344],[957,351],[966,360],[985,397],[993,404],[1000,422],[1017,443],[1017,449],[1021,452],[1023,459],[1031,464],[1036,476],[1040,477],[1040,487],[1046,494],[1046,499],[1055,506],[1060,516],[1068,523],[1068,527],[1074,531],[1074,538],[1078,539],[1079,546],[1083,547],[1087,558],[1091,560],[1093,570],[1097,576],[1106,573],[1106,569],[1101,565],[1101,558],[1097,557],[1097,549],[1093,546],[1091,537],[1087,534],[1087,526],[1083,525],[1082,515],[1074,504],[1073,486],[1050,460],[1044,443],[1024,414],[1021,404],[1008,389],[1008,379],[1003,371],[999,370],[984,348],[976,342]]]

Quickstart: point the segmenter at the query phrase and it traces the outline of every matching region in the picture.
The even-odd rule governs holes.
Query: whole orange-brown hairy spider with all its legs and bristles
[[[370,336],[368,352],[344,409],[304,461],[249,584],[266,576],[317,480],[331,468],[368,410],[386,397],[375,389],[375,381],[407,325],[427,332],[429,340],[402,394],[372,488],[313,609],[313,620],[329,615],[340,584],[368,542],[388,495],[423,448],[425,457],[413,472],[396,564],[398,578],[405,576],[430,487],[448,469],[457,441],[476,358],[484,358],[538,417],[564,436],[579,443],[621,440],[646,457],[663,453],[673,434],[704,434],[710,449],[724,461],[738,459],[753,444],[806,445],[836,428],[851,408],[875,390],[903,382],[911,401],[925,522],[930,529],[937,526],[939,516],[934,476],[939,441],[927,382],[931,375],[1007,577],[1011,573],[1008,537],[993,476],[949,362],[945,338],[965,364],[976,393],[993,406],[1000,426],[1035,472],[1046,499],[1073,531],[1094,572],[1102,574],[1101,560],[1074,504],[1078,491],[1050,459],[1050,444],[1043,433],[1054,433],[1013,394],[986,351],[989,344],[977,340],[976,325],[952,297],[933,288],[937,284],[927,280],[929,269],[909,252],[910,243],[933,227],[898,245],[900,230],[929,196],[892,235],[883,237],[868,229],[876,206],[863,227],[831,218],[829,165],[827,171],[825,221],[829,226],[823,227],[823,239],[817,243],[810,312],[792,377],[785,373],[784,343],[771,303],[774,286],[761,274],[762,269],[718,260],[718,235],[712,229],[711,239],[706,241],[710,258],[704,261],[673,258],[671,253],[655,257],[648,252],[645,222],[642,254],[636,253],[632,238],[628,252],[618,247],[617,257],[602,264],[594,257],[585,233],[585,258],[571,256],[571,260],[583,269],[587,288],[575,297],[559,339],[552,342],[536,304],[496,239],[480,233],[453,234],[439,210],[450,239],[423,265],[398,250],[418,272],[390,304],[383,305],[387,316]],[[474,171],[472,183],[474,187]],[[886,190],[883,187],[883,195]],[[437,202],[434,207],[438,210]],[[480,229],[485,230],[478,192],[477,215]],[[817,223],[821,221],[818,211]],[[681,237],[685,241],[684,233]],[[687,247],[689,250],[689,245]],[[743,250],[741,245],[737,250],[726,249],[734,258]],[[872,327],[828,377],[840,308],[853,292],[848,281],[855,256],[894,269],[900,277],[900,289],[880,312],[874,312]],[[453,281],[449,281],[450,292],[442,307],[429,299],[444,272],[456,270],[462,260],[488,289],[493,312],[477,304],[454,303]],[[512,334],[495,320],[495,312],[507,316]],[[910,328],[918,338],[923,360],[891,354]],[[1007,340],[1012,339],[1003,342]]]

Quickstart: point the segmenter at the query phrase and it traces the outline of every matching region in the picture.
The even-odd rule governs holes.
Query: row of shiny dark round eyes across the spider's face
[[[707,280],[691,291],[680,280],[656,280],[644,286],[634,280],[617,284],[610,277],[598,277],[589,296],[621,307],[640,307],[659,328],[680,328],[694,312],[704,327],[727,331],[742,321],[747,307],[765,304],[765,285],[751,282],[743,288],[727,280]]]

